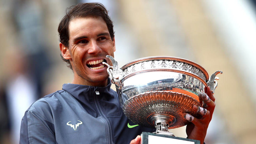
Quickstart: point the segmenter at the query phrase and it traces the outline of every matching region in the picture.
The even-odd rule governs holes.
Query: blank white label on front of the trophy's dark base
[[[156,143],[162,143],[162,144],[194,144],[194,142],[190,141],[183,141],[179,139],[173,139],[173,138],[165,138],[165,137],[158,137],[154,135],[149,135],[149,143],[148,144],[156,144]]]

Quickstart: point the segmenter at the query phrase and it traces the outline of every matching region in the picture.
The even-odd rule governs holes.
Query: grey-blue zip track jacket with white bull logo
[[[142,131],[122,112],[118,95],[106,87],[64,84],[35,101],[21,122],[20,143],[130,143]]]

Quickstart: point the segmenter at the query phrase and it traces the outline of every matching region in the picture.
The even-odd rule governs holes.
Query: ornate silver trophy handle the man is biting
[[[110,65],[108,65],[105,62],[102,62],[102,63],[108,67],[107,68],[107,73],[109,74],[111,82],[113,84],[115,84],[115,87],[117,89],[120,90],[120,89],[122,89],[121,79],[124,76],[124,72],[123,72],[122,69],[119,69],[118,62],[115,61],[115,59],[112,56],[107,55],[106,57],[110,59],[110,61],[112,62],[113,66],[110,66]]]

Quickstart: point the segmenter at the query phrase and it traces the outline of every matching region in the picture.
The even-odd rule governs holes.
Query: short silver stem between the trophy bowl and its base
[[[150,123],[153,123],[156,129],[156,134],[173,135],[168,131],[168,127],[176,122],[176,118],[170,114],[153,114],[148,118]]]

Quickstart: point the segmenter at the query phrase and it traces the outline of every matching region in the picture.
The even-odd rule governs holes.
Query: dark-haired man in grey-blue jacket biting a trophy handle
[[[118,95],[110,89],[110,79],[102,62],[111,65],[106,55],[114,57],[113,23],[100,3],[70,7],[59,24],[62,59],[73,69],[74,79],[62,90],[34,102],[21,123],[20,143],[139,143],[142,131],[153,132],[128,120],[119,106]],[[214,100],[207,88],[207,94]],[[206,94],[202,99],[209,98]],[[206,114],[187,126],[188,138],[203,143],[214,102],[205,101]],[[135,138],[135,139],[134,139]]]

